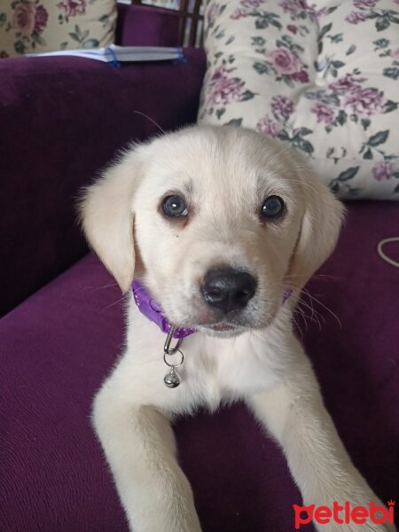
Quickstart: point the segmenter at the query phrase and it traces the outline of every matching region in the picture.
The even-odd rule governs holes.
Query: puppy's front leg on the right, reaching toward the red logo
[[[298,366],[293,377],[253,395],[247,400],[249,406],[281,444],[304,505],[331,508],[333,501],[367,508],[370,501],[382,505],[348,457],[299,343],[297,349]],[[333,520],[315,525],[325,532],[395,530],[371,520],[362,525],[339,525]]]

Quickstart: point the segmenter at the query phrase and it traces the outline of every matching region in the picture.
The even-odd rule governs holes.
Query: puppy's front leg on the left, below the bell
[[[118,369],[115,373],[118,372]],[[192,489],[176,462],[169,420],[129,402],[117,375],[96,396],[93,422],[135,532],[200,532]]]

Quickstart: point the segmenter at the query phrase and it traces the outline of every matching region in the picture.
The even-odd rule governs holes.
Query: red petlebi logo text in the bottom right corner
[[[385,506],[378,506],[370,501],[368,506],[352,506],[346,501],[340,505],[333,501],[332,506],[299,506],[293,505],[293,518],[295,530],[299,530],[301,525],[307,525],[315,520],[321,525],[326,525],[331,521],[340,525],[356,523],[363,525],[370,521],[376,524],[391,523],[394,524],[395,501],[387,501]]]

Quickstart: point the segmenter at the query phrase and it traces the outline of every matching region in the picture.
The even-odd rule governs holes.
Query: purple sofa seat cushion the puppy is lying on
[[[340,436],[383,501],[399,496],[399,300],[398,271],[376,246],[398,227],[397,204],[351,204],[308,286],[321,331],[297,317]],[[128,529],[90,428],[92,396],[121,351],[122,306],[89,255],[0,321],[0,530]],[[181,419],[176,435],[204,532],[293,530],[300,494],[243,405]]]

